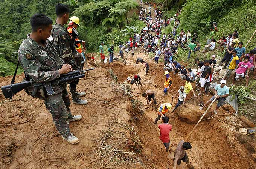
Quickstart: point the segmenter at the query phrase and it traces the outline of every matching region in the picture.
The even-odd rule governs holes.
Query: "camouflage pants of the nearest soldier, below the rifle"
[[[70,112],[70,99],[66,89],[63,92],[46,97],[45,106],[52,114],[52,120],[61,136],[66,137],[70,133],[68,119],[72,117]]]

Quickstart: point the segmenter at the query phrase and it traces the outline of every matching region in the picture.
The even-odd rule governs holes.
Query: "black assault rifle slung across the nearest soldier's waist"
[[[32,92],[32,95],[35,95],[37,93],[37,90],[39,89],[39,86],[43,86],[46,89],[46,92],[48,95],[53,95],[54,91],[52,89],[52,85],[51,84],[62,84],[65,83],[67,81],[73,81],[79,78],[84,78],[85,77],[85,72],[90,71],[90,70],[94,70],[95,68],[90,68],[90,69],[86,69],[83,71],[72,71],[69,72],[67,74],[62,74],[60,75],[59,78],[49,81],[49,82],[44,82],[44,83],[37,83],[33,80],[29,80],[29,81],[23,81],[21,83],[16,83],[16,84],[9,84],[6,86],[2,86],[1,90],[3,92],[3,95],[5,96],[5,98],[9,98],[14,96],[16,93],[20,92],[21,90],[28,88],[29,86],[35,86],[34,91]]]

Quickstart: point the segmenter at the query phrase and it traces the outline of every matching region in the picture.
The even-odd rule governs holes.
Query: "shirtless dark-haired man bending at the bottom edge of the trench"
[[[184,142],[183,140],[181,140],[178,143],[177,148],[174,151],[174,169],[177,168],[177,165],[180,165],[181,160],[187,164],[187,167],[189,169],[194,169],[194,166],[192,165],[192,163],[189,162],[189,157],[187,156],[187,153],[185,151],[191,148],[192,146],[189,142]]]

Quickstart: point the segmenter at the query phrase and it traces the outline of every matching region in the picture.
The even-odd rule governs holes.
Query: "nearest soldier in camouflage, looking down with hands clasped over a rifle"
[[[69,122],[82,119],[81,115],[72,116],[70,112],[70,99],[66,83],[51,84],[53,94],[47,92],[45,83],[59,78],[61,74],[72,71],[72,66],[64,64],[59,53],[54,49],[49,38],[52,30],[52,20],[44,14],[35,14],[30,19],[32,33],[22,41],[18,59],[23,67],[26,80],[41,83],[39,86],[30,86],[26,89],[32,97],[45,100],[45,106],[52,114],[53,123],[62,138],[71,144],[76,144],[79,139],[70,132]],[[37,89],[36,93],[34,89]]]

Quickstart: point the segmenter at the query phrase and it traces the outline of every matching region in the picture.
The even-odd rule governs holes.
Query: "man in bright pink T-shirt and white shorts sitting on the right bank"
[[[233,83],[231,84],[231,86],[233,86],[235,84],[235,80],[239,80],[240,76],[242,78],[246,78],[246,87],[248,87],[248,82],[249,82],[249,72],[250,72],[250,67],[251,67],[251,63],[248,62],[249,61],[249,56],[245,56],[244,57],[244,62],[240,62],[238,64],[238,68],[236,69],[234,78],[233,78]],[[247,74],[245,75],[247,71]]]

